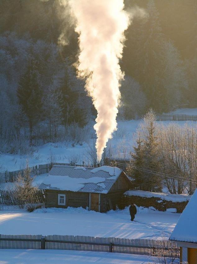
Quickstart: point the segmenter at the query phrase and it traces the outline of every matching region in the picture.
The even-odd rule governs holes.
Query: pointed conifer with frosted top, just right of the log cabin
[[[134,152],[131,153],[129,164],[136,184],[139,184],[137,187],[146,191],[158,191],[162,187],[161,178],[157,175],[157,171],[160,170],[160,160],[155,119],[155,114],[150,109],[138,129],[138,135],[141,138],[138,136],[137,146],[134,148]]]

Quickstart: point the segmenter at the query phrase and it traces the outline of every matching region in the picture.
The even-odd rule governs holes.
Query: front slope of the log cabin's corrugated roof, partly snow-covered
[[[101,166],[98,169],[55,165],[44,178],[39,189],[59,189],[74,192],[93,192],[94,190],[94,193],[108,193],[122,170],[108,166]],[[114,170],[116,175],[111,176]]]

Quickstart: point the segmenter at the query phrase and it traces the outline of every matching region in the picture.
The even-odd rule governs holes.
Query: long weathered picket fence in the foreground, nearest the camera
[[[0,249],[63,249],[179,257],[176,241],[72,235],[2,235]]]

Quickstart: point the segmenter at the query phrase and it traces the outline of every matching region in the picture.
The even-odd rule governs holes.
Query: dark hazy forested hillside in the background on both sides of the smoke
[[[26,153],[28,143],[58,141],[96,115],[84,80],[76,78],[78,35],[61,2],[0,2],[1,151]],[[144,8],[147,16],[134,18],[126,32],[119,117],[138,118],[149,107],[197,107],[197,2],[125,5]]]

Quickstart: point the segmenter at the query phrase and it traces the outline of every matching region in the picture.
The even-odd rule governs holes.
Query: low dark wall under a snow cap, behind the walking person
[[[185,202],[172,202],[162,200],[158,197],[141,197],[135,195],[122,195],[121,196],[121,209],[125,206],[129,206],[131,203],[135,203],[137,206],[150,207],[153,206],[159,211],[166,211],[167,208],[176,208],[177,213],[182,213],[185,209],[188,201]]]

